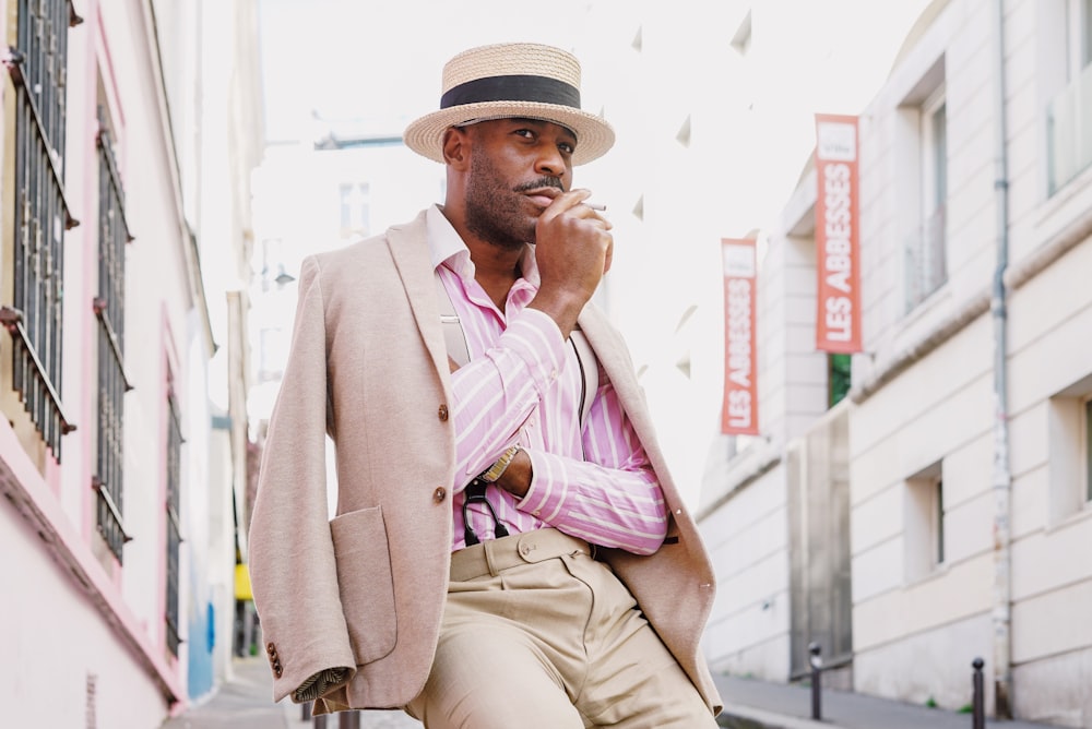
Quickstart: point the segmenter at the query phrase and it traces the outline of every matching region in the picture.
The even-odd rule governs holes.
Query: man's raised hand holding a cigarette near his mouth
[[[538,216],[535,260],[542,285],[529,304],[548,314],[568,338],[600,280],[610,268],[610,223],[584,205],[591,192],[562,192]]]

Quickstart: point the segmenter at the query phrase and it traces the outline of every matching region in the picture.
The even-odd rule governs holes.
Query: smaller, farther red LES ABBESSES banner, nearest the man
[[[721,432],[758,435],[753,240],[721,240],[724,259],[724,406]]]

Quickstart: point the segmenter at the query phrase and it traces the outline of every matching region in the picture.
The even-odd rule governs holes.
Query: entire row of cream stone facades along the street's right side
[[[714,668],[800,678],[815,641],[836,684],[960,708],[981,657],[993,713],[1092,726],[1090,4],[922,13],[859,115],[864,351],[834,406],[814,170],[786,201],[765,438],[702,494]]]

